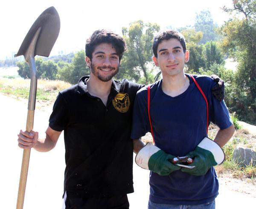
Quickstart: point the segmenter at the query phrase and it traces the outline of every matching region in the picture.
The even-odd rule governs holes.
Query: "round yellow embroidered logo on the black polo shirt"
[[[130,99],[127,93],[118,93],[112,100],[113,106],[121,113],[125,113],[129,110]]]

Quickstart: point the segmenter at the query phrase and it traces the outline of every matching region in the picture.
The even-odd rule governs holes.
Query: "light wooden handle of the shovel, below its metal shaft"
[[[28,110],[27,121],[26,121],[27,132],[30,132],[33,129],[34,113],[35,113],[35,110]],[[28,170],[29,170],[29,157],[30,157],[30,148],[24,149],[21,170],[20,170],[20,183],[19,183],[16,209],[23,209],[25,190],[26,190],[26,180],[27,180]]]

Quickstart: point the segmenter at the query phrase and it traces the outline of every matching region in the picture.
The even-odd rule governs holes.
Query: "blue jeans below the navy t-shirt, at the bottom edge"
[[[215,209],[215,200],[200,205],[169,205],[148,201],[148,209]]]

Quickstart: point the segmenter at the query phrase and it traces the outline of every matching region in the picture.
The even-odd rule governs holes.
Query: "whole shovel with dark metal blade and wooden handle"
[[[37,71],[35,67],[35,55],[48,57],[60,31],[60,17],[54,7],[46,9],[29,29],[15,57],[24,55],[30,67],[29,104],[26,121],[26,131],[30,132],[34,124],[35,98],[37,88]],[[20,184],[16,209],[23,209],[26,180],[29,168],[30,149],[23,150],[22,165],[20,171]]]

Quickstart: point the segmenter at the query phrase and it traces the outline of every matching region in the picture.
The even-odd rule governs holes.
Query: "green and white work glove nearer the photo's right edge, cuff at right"
[[[214,165],[220,165],[225,160],[224,151],[212,139],[205,137],[195,148],[187,154],[188,157],[193,158],[193,163],[190,166],[194,168],[181,168],[181,171],[195,175],[202,176],[207,173],[209,168]]]

